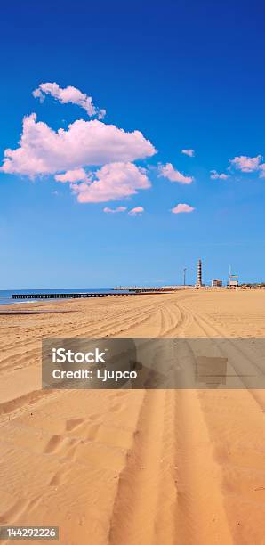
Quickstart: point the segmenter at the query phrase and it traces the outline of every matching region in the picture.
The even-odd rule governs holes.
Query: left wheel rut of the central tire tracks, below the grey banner
[[[109,525],[109,545],[156,543],[157,505],[163,475],[165,398],[165,390],[147,391],[144,397],[132,450],[128,452],[126,465],[119,476]],[[172,492],[174,502],[174,486]]]

